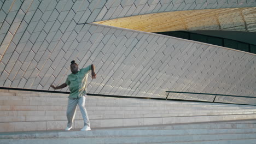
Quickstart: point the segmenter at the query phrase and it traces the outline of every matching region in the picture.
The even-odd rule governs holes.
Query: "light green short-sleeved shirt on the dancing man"
[[[91,70],[91,65],[80,69],[77,74],[69,74],[66,84],[69,86],[70,94],[68,98],[80,98],[86,94],[88,74]]]

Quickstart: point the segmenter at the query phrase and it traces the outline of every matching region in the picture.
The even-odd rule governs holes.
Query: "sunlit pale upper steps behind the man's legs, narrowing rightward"
[[[67,96],[25,91],[0,92],[0,131],[65,128]],[[88,96],[86,109],[92,128],[256,118],[255,106],[152,99]],[[82,116],[77,111],[74,128],[82,127]]]

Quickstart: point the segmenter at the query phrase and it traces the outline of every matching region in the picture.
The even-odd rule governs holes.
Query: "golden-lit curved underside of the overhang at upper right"
[[[98,21],[143,32],[228,30],[256,32],[256,7],[170,11]]]

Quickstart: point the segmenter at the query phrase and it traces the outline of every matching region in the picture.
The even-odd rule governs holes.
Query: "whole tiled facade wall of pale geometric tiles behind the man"
[[[165,98],[168,90],[255,96],[253,54],[123,28],[77,25],[162,11],[255,6],[249,0],[0,1],[0,87],[53,90],[51,83],[65,82],[75,59],[80,68],[96,65],[89,93]]]

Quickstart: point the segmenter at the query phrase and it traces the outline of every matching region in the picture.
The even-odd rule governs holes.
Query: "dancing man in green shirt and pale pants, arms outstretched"
[[[67,80],[60,86],[53,86],[54,89],[65,88],[69,86],[70,94],[68,96],[68,106],[67,106],[67,127],[65,130],[70,130],[72,128],[72,123],[75,117],[75,111],[77,110],[77,104],[79,105],[80,111],[84,119],[84,127],[82,131],[91,130],[90,121],[88,118],[87,111],[85,109],[85,99],[86,99],[86,87],[88,74],[91,70],[92,79],[96,79],[95,66],[93,64],[89,65],[86,68],[80,69],[78,71],[78,64],[75,61],[71,62],[70,65],[71,74],[68,75]]]

